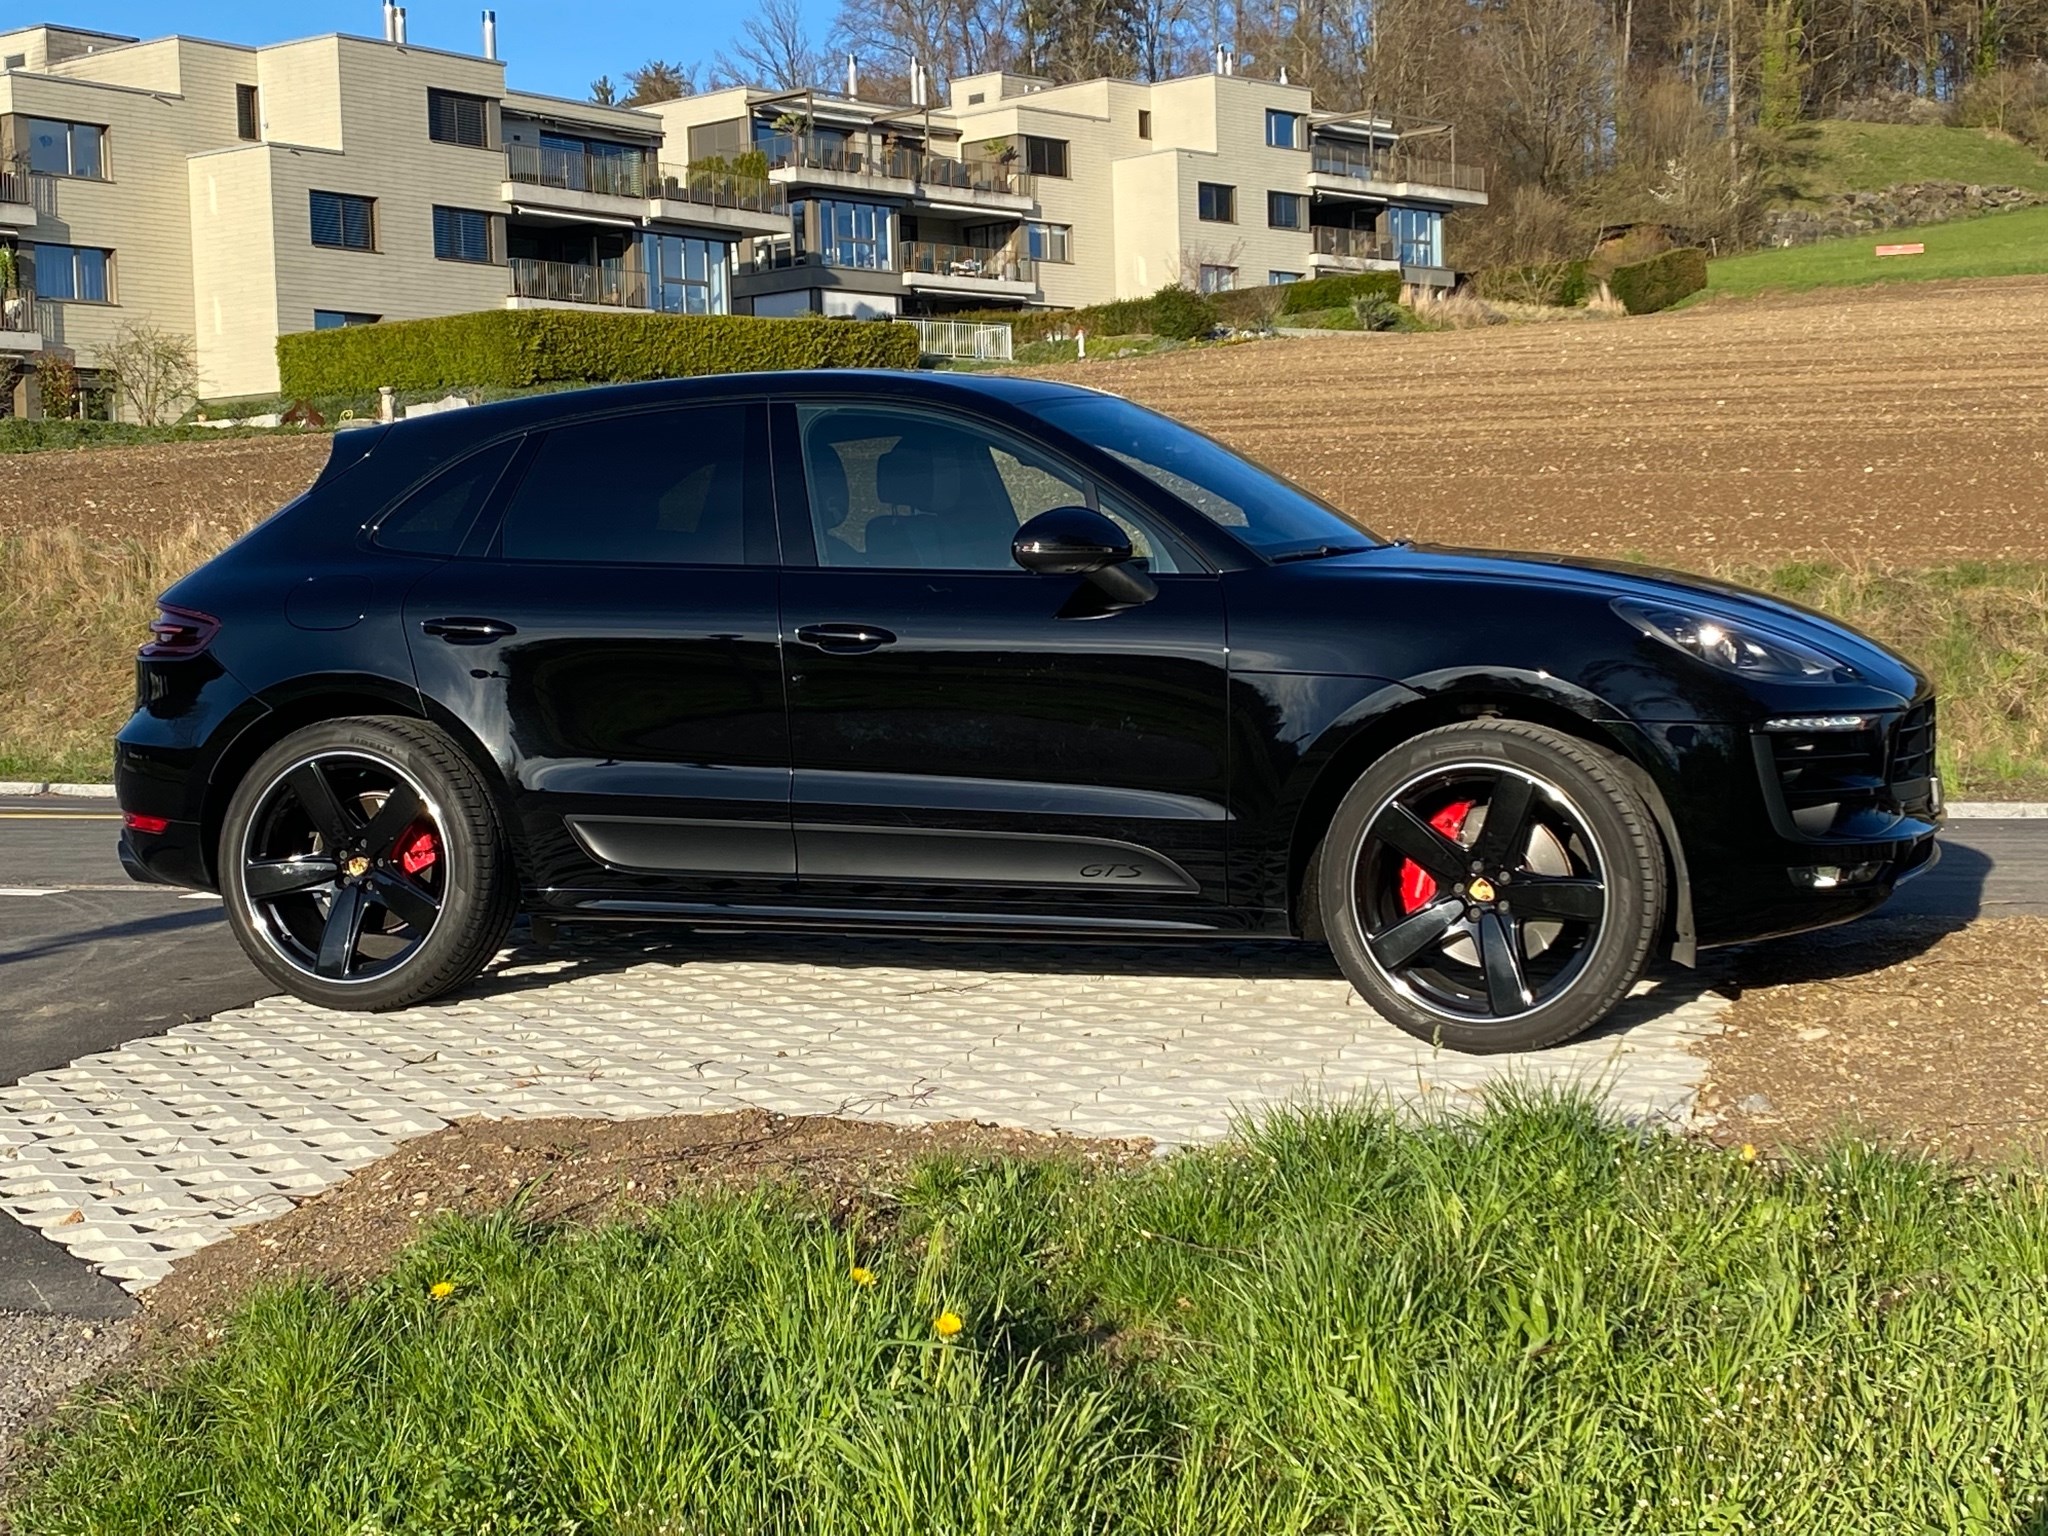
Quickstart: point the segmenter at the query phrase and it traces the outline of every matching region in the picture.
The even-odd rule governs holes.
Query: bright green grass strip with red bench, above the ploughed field
[[[1925,244],[1925,256],[1876,256],[1878,244]],[[1929,223],[1917,229],[1823,240],[1788,250],[1757,250],[1706,264],[1706,291],[1686,303],[1755,293],[1862,283],[1925,283],[1929,279],[2013,276],[2048,272],[2048,207],[1987,213],[1978,219]]]

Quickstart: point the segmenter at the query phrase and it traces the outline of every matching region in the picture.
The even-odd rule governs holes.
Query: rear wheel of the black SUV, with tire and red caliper
[[[307,725],[236,786],[221,899],[256,969],[324,1008],[473,981],[518,913],[512,848],[463,752],[410,719]]]

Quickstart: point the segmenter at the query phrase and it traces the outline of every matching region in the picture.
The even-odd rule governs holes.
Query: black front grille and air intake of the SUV
[[[1933,809],[1933,702],[1855,731],[1759,731],[1757,758],[1794,836],[1876,836]]]

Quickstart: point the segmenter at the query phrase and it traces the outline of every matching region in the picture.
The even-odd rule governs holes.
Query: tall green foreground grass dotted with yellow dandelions
[[[434,1229],[66,1417],[43,1532],[2040,1530],[2048,1200],[1530,1100]],[[874,1284],[852,1268],[872,1270]],[[451,1282],[453,1296],[430,1288]],[[965,1331],[944,1341],[942,1311]]]

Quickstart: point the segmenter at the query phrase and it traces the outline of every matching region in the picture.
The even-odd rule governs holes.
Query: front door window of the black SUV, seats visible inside
[[[1016,571],[1010,545],[1024,522],[1098,506],[1071,469],[973,422],[858,406],[797,416],[819,565]],[[1153,569],[1178,569],[1122,508],[1102,510]]]

